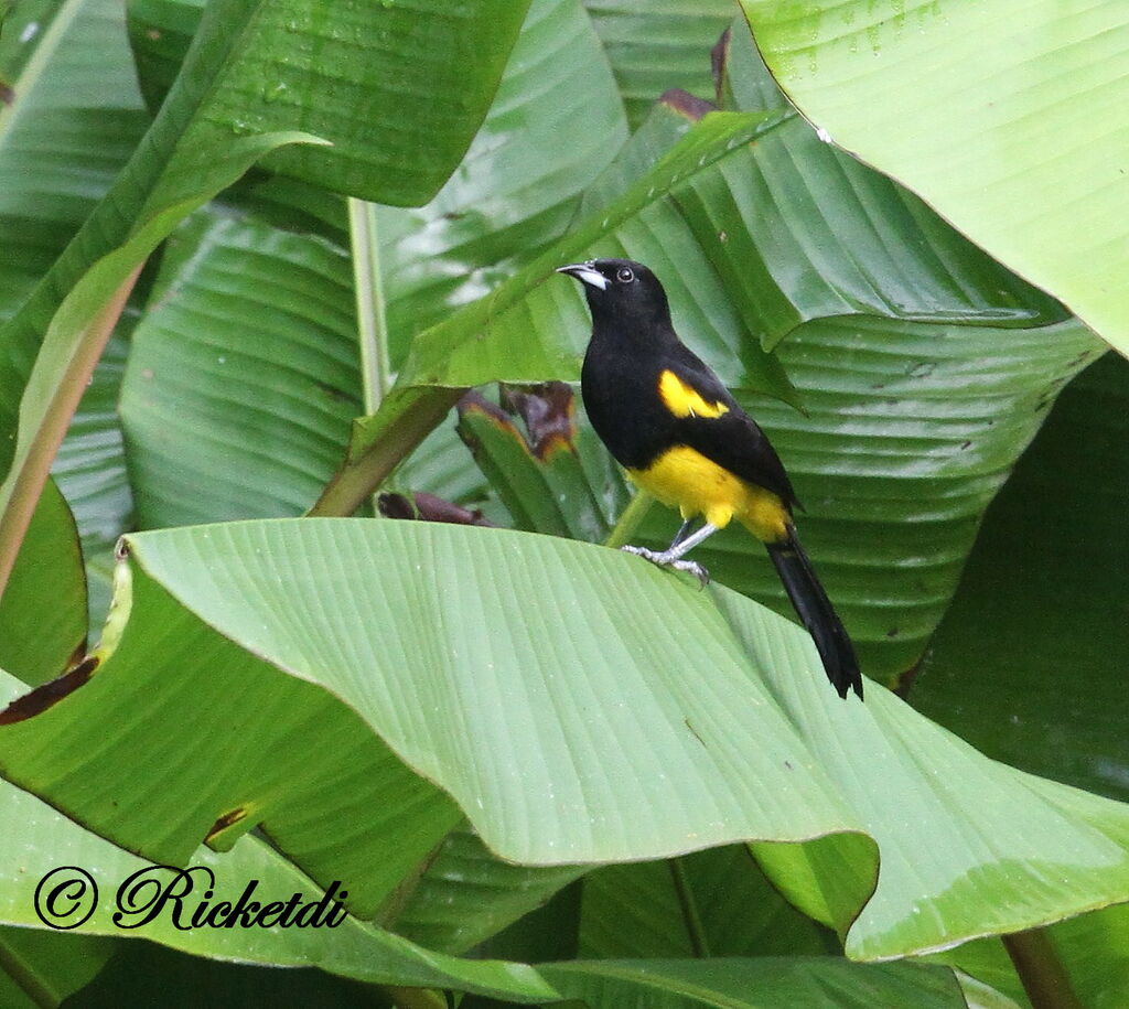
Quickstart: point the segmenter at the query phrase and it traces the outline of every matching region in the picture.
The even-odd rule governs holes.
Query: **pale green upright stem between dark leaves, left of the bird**
[[[376,227],[376,204],[349,198],[349,232],[352,239],[353,291],[357,299],[357,335],[360,343],[360,378],[365,413],[376,413],[392,385],[388,323],[385,315],[384,277]]]

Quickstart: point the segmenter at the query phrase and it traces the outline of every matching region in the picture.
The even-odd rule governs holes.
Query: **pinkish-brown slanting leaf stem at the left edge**
[[[27,448],[20,451],[17,447],[11,472],[0,488],[0,595],[11,577],[19,547],[51,473],[51,464],[140,272],[139,265],[103,305],[75,344],[62,376],[52,388],[44,391],[47,406],[38,423],[30,431],[20,431],[20,440],[29,435]],[[33,370],[24,395],[36,394]]]

